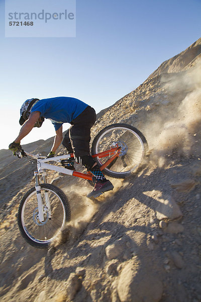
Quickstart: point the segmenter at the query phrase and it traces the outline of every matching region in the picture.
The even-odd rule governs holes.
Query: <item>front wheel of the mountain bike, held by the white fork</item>
[[[37,248],[47,248],[70,220],[70,206],[65,194],[51,184],[41,184],[44,221],[38,217],[36,188],[22,198],[18,210],[18,225],[24,239]]]

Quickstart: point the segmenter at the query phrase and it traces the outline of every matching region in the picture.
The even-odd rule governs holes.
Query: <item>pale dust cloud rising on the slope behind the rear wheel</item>
[[[152,159],[162,166],[166,156],[199,154],[201,60],[187,71],[163,75],[161,85],[167,104],[156,108],[151,117],[149,146]]]

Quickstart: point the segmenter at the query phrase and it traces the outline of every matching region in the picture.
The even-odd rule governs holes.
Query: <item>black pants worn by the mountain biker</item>
[[[89,155],[90,129],[95,119],[95,110],[88,106],[72,120],[72,126],[65,134],[62,145],[66,147],[68,153],[74,153],[75,158]]]

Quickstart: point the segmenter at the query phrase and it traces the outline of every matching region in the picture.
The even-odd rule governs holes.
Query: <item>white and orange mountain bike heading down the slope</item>
[[[127,124],[113,124],[95,136],[91,156],[104,174],[125,178],[139,167],[147,150],[146,138],[137,128]],[[47,183],[46,170],[83,178],[90,184],[93,183],[93,175],[66,168],[66,160],[74,158],[73,154],[47,158],[21,149],[18,157],[21,156],[36,161],[37,171],[34,172],[35,186],[22,197],[19,205],[19,229],[30,245],[47,248],[64,229],[71,212],[63,191]]]

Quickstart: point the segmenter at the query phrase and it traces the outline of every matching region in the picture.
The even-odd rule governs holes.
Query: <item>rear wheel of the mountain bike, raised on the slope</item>
[[[137,128],[127,124],[113,124],[105,127],[95,136],[91,145],[91,154],[104,152],[117,145],[121,147],[119,156],[103,172],[114,178],[125,178],[142,163],[148,144]],[[95,161],[100,167],[113,155],[95,157]]]

